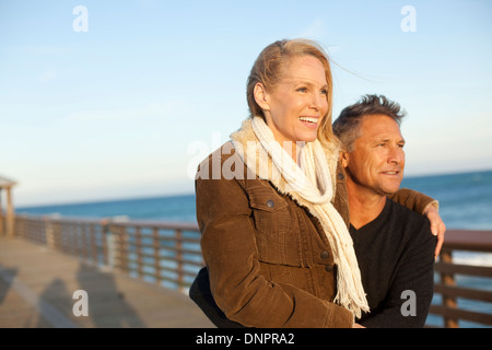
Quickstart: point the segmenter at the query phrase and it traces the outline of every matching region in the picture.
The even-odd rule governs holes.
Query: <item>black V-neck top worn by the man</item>
[[[434,291],[436,237],[424,217],[390,199],[363,228],[350,225],[371,313],[365,327],[423,327]],[[405,316],[407,315],[407,316]]]

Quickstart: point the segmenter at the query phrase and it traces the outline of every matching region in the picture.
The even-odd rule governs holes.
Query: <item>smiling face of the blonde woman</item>
[[[278,142],[311,142],[328,110],[328,83],[323,63],[313,56],[293,58],[283,78],[268,92],[259,86],[267,125]]]

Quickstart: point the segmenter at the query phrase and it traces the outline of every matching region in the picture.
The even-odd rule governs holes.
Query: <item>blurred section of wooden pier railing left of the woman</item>
[[[204,265],[189,223],[17,215],[15,235],[180,291]]]

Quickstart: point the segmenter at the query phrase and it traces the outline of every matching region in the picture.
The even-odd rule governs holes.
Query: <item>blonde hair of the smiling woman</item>
[[[327,102],[328,112],[323,118],[318,128],[318,140],[321,143],[336,143],[338,139],[331,129],[332,92],[331,68],[328,55],[323,47],[307,39],[283,39],[268,45],[258,56],[253,65],[246,86],[246,98],[249,106],[250,116],[265,118],[263,112],[256,103],[254,90],[257,83],[261,83],[266,90],[273,89],[283,78],[288,65],[293,58],[302,56],[313,56],[317,58],[325,68],[325,78],[328,84]]]

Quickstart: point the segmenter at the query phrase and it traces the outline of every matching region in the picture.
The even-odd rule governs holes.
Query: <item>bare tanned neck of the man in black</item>
[[[349,192],[350,223],[356,230],[376,219],[386,205],[386,196],[361,188],[352,182],[347,182]]]

